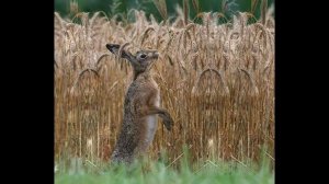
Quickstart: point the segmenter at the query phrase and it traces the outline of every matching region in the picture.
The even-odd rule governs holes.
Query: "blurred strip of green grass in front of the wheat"
[[[191,169],[181,163],[178,169],[162,163],[116,166],[98,172],[69,174],[58,172],[56,184],[274,184],[274,172],[266,162],[249,166],[231,162],[206,161]],[[257,169],[258,168],[258,169]]]

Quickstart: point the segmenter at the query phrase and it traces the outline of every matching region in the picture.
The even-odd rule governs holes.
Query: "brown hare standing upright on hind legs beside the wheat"
[[[173,119],[167,110],[159,107],[159,87],[150,74],[159,54],[155,50],[139,50],[133,55],[125,49],[120,51],[120,47],[106,44],[111,53],[116,56],[121,53],[120,57],[132,64],[134,78],[125,95],[123,124],[111,161],[132,163],[150,146],[157,130],[157,115],[162,118],[168,130],[171,130]]]

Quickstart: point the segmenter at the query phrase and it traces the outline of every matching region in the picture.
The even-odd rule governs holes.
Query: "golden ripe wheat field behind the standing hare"
[[[159,120],[150,159],[166,152],[174,164],[185,145],[192,161],[243,163],[259,160],[265,146],[274,162],[273,12],[262,21],[240,12],[224,23],[203,13],[202,24],[183,13],[161,23],[131,13],[134,23],[102,12],[72,19],[55,12],[55,161],[109,162],[133,72],[106,49],[115,43],[160,53],[152,73],[174,126],[167,131]]]

